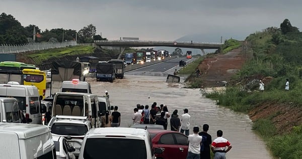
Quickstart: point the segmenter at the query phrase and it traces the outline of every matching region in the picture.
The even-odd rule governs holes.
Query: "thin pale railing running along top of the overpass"
[[[177,43],[199,43],[199,44],[223,44],[223,43],[219,43],[219,42],[199,42],[199,41],[149,41],[149,40],[95,40],[94,41],[95,43],[96,42],[149,42],[149,43],[155,43],[155,42],[160,42],[160,43],[174,43],[174,42],[177,42]]]

